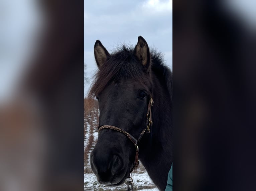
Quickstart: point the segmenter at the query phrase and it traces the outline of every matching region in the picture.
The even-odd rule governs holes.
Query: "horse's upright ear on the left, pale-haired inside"
[[[109,56],[108,51],[101,42],[97,40],[94,44],[94,57],[99,68],[108,60]]]

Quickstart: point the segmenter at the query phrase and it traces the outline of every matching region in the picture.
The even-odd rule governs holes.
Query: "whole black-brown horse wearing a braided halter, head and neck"
[[[99,183],[117,186],[140,160],[164,190],[173,158],[172,71],[141,36],[135,48],[112,54],[97,40],[94,56],[99,70],[88,96],[97,98],[100,116],[92,171]]]

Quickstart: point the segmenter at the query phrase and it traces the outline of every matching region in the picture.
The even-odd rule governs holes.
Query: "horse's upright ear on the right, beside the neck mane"
[[[143,37],[138,37],[137,45],[134,49],[134,55],[139,59],[140,63],[148,68],[150,63],[150,54],[148,44]]]

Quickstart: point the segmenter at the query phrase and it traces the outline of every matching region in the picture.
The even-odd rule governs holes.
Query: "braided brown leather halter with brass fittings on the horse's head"
[[[102,129],[113,129],[113,130],[116,130],[118,132],[123,133],[124,135],[126,135],[133,142],[133,144],[135,145],[136,154],[135,154],[134,166],[133,166],[131,172],[139,165],[139,142],[140,142],[140,140],[141,140],[141,138],[142,138],[142,136],[144,135],[145,132],[150,133],[150,126],[152,126],[152,124],[153,124],[152,114],[151,114],[151,107],[153,106],[153,103],[154,103],[154,101],[153,101],[152,97],[150,96],[150,101],[148,103],[148,110],[147,110],[147,120],[148,120],[147,121],[147,127],[145,129],[143,129],[143,131],[140,133],[138,139],[134,138],[134,136],[129,134],[127,131],[124,131],[124,130],[116,127],[116,126],[102,125],[102,126],[99,127],[98,133],[100,133],[100,131]]]

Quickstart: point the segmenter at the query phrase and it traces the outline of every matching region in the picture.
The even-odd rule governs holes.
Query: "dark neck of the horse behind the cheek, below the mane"
[[[141,142],[139,156],[150,178],[164,190],[172,162],[171,99],[155,76],[153,82],[153,125]]]

